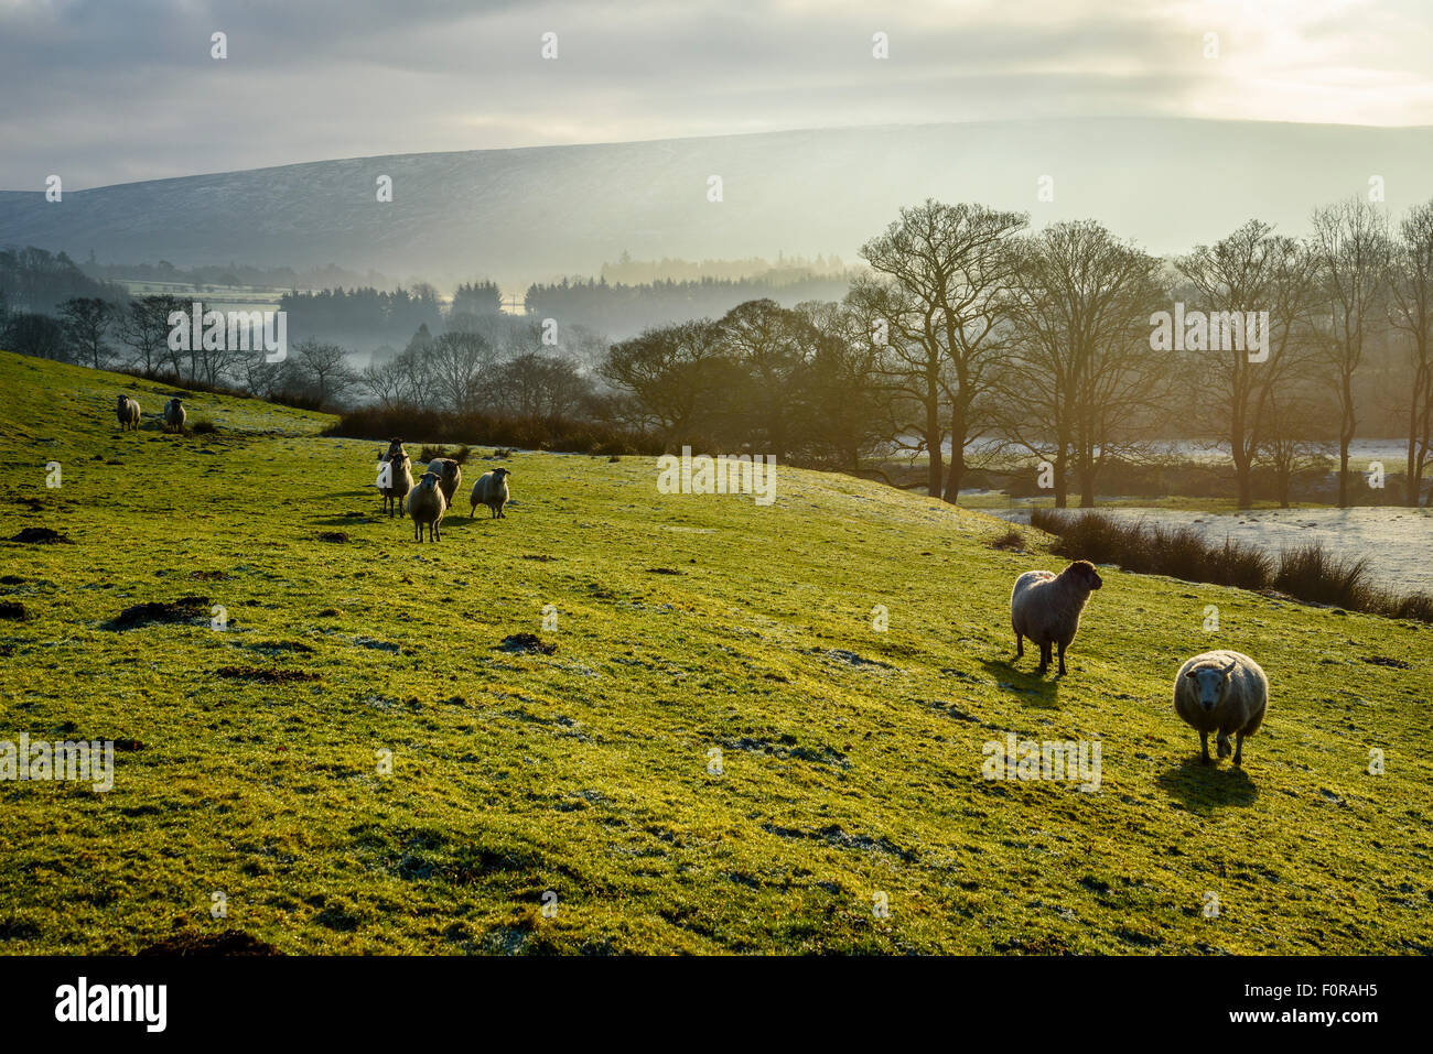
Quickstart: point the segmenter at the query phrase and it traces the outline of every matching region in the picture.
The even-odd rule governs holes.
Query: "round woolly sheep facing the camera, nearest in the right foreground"
[[[1174,709],[1199,733],[1199,762],[1209,765],[1209,733],[1218,732],[1218,756],[1244,763],[1244,738],[1258,732],[1268,707],[1268,677],[1260,664],[1240,652],[1205,652],[1179,667],[1174,679]]]

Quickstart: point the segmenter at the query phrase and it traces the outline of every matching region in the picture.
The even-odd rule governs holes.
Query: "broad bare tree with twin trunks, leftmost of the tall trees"
[[[960,494],[966,445],[982,431],[980,401],[992,390],[1003,349],[1010,239],[1027,223],[1020,212],[927,199],[901,209],[886,233],[861,246],[861,258],[881,278],[858,282],[851,296],[884,319],[887,372],[924,411],[920,431],[930,457],[931,497],[954,503]],[[944,491],[941,402],[950,434]]]

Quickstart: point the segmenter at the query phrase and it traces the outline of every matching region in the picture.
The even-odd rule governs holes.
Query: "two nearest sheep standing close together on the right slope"
[[[1059,649],[1060,675],[1065,649],[1075,640],[1079,616],[1089,594],[1099,589],[1099,573],[1088,560],[1076,560],[1059,574],[1026,571],[1010,593],[1010,626],[1015,629],[1015,657],[1025,654],[1025,637],[1040,649],[1040,673]],[[1260,664],[1240,652],[1205,652],[1179,667],[1174,682],[1174,709],[1199,733],[1201,759],[1209,763],[1209,733],[1215,732],[1218,756],[1244,763],[1244,739],[1258,732],[1268,706],[1268,677]]]

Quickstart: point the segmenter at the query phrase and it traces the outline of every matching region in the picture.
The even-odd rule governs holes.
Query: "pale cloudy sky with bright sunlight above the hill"
[[[1433,125],[1433,0],[0,0],[11,190],[1059,116]]]

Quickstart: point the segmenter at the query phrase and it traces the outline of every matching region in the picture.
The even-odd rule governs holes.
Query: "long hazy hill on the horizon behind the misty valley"
[[[394,200],[375,200],[378,176]],[[708,178],[724,200],[706,200]],[[1055,200],[1036,200],[1053,178]],[[636,258],[838,253],[854,259],[926,196],[1093,216],[1155,252],[1386,180],[1433,196],[1433,129],[1174,119],[913,125],[324,160],[92,190],[0,192],[0,245],[178,266],[373,268],[438,284],[598,274]]]

